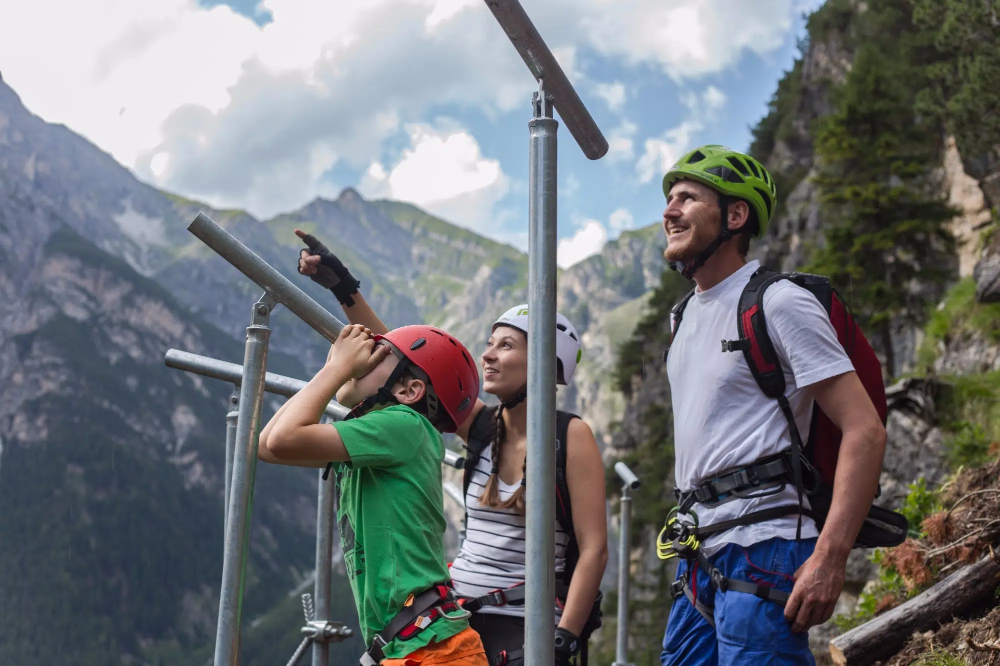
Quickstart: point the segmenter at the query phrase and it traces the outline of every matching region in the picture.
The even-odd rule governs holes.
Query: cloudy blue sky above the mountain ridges
[[[610,143],[559,132],[559,261],[745,149],[821,0],[521,0]],[[537,87],[483,0],[0,0],[0,73],[141,179],[267,218],[348,186],[527,249]]]

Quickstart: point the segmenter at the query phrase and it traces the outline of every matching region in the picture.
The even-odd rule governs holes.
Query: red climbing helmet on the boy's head
[[[440,430],[455,432],[472,413],[479,396],[479,371],[465,345],[448,332],[423,324],[402,326],[375,336],[376,344],[381,340],[390,344],[400,366],[412,365],[427,375],[434,389],[428,391],[428,411],[433,415],[436,402],[451,417],[451,423]],[[404,368],[397,366],[397,369],[401,374]],[[396,379],[391,381],[395,383]]]

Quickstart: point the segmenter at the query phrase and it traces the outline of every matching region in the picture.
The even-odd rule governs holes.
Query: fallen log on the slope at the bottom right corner
[[[837,666],[869,666],[894,655],[915,631],[935,629],[1000,585],[1000,557],[989,555],[930,589],[830,641]]]

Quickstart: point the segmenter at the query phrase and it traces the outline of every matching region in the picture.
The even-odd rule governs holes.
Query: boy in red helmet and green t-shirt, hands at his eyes
[[[344,562],[369,645],[362,664],[487,664],[450,591],[442,543],[441,432],[468,418],[478,393],[472,356],[445,331],[346,326],[323,368],[260,433],[266,462],[333,461]],[[322,424],[334,396],[351,413]]]

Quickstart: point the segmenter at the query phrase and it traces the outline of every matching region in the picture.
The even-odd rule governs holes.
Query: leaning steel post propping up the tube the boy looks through
[[[277,302],[264,294],[253,306],[247,327],[240,382],[240,408],[236,422],[232,494],[226,518],[226,547],[222,561],[219,621],[215,634],[215,666],[237,666],[240,658],[240,621],[243,587],[250,545],[254,475],[257,471],[257,438],[264,398],[264,371],[271,336],[271,312]]]

